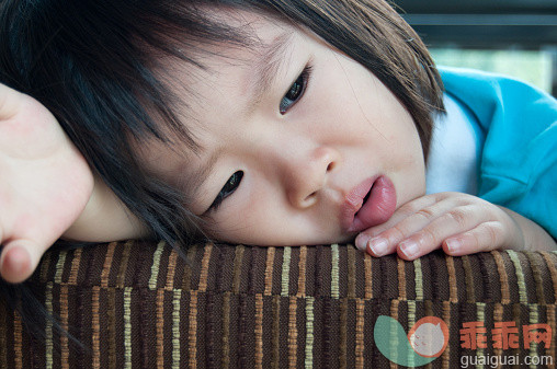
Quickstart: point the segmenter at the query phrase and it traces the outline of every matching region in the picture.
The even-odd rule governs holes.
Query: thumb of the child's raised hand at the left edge
[[[48,247],[39,247],[33,241],[14,240],[7,243],[0,255],[0,275],[11,284],[31,277]]]

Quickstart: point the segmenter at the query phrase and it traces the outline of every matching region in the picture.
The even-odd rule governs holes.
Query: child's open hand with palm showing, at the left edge
[[[86,160],[36,100],[0,84],[0,275],[20,282],[83,211]]]

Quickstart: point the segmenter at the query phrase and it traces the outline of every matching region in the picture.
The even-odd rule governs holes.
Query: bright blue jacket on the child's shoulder
[[[446,92],[473,112],[486,137],[478,196],[557,239],[557,100],[508,77],[440,71]]]

